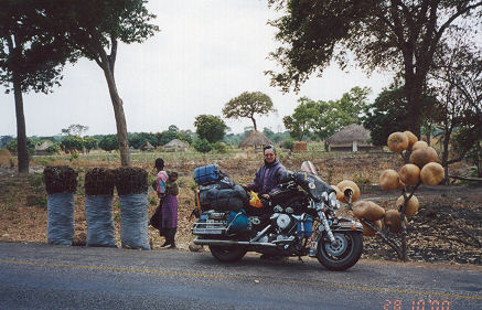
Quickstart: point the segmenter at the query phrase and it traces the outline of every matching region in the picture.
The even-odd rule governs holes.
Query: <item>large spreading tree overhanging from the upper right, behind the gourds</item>
[[[271,84],[296,90],[332,60],[345,67],[351,51],[365,70],[404,76],[407,125],[420,133],[419,105],[433,54],[447,30],[463,18],[465,35],[480,29],[480,0],[269,0],[286,15],[271,21],[282,46],[270,54],[283,68],[268,71]]]

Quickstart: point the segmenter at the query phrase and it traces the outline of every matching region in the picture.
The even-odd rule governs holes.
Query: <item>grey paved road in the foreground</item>
[[[482,269],[0,243],[0,309],[482,309]],[[425,304],[425,306],[422,306]]]

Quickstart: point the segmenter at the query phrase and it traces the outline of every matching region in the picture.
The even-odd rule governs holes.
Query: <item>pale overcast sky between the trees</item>
[[[151,0],[148,10],[160,32],[141,44],[118,46],[116,83],[129,132],[160,132],[170,125],[194,128],[202,114],[222,117],[229,99],[243,92],[267,94],[277,109],[256,115],[258,129],[285,130],[282,117],[291,115],[302,96],[334,100],[354,86],[368,86],[373,100],[392,82],[390,73],[329,66],[322,77],[312,76],[300,92],[283,94],[269,86],[265,71],[279,71],[268,60],[279,42],[269,20],[280,15],[267,0]],[[52,94],[23,96],[28,136],[55,136],[69,125],[89,129],[85,135],[116,132],[114,108],[104,73],[95,62],[81,60],[64,70],[62,86]],[[17,136],[13,94],[0,93],[0,136]],[[243,132],[249,119],[224,119],[229,132]]]

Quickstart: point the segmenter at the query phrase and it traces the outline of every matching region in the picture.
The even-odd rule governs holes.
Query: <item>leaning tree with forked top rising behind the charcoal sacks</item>
[[[46,14],[52,28],[68,40],[69,46],[103,70],[116,118],[120,161],[130,164],[124,103],[117,90],[115,64],[118,42],[141,43],[159,28],[150,21],[143,0],[64,0],[55,1]]]

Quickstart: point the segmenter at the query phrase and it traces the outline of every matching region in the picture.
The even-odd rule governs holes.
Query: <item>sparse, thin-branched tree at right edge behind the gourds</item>
[[[449,165],[463,160],[482,139],[482,49],[462,35],[446,40],[436,52],[429,77],[439,103],[441,163],[448,182]],[[450,142],[457,131],[463,132],[458,135],[463,142],[454,141],[454,156]]]

